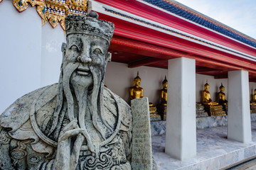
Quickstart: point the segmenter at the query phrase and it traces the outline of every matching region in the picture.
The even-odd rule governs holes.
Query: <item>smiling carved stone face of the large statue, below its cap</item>
[[[107,65],[107,40],[95,35],[70,34],[67,38],[67,47],[63,59],[63,69],[68,65],[78,64],[71,74],[70,83],[83,87],[93,84],[92,72],[96,72],[102,78],[102,69]],[[64,72],[65,73],[65,72]],[[63,75],[65,76],[65,75]]]

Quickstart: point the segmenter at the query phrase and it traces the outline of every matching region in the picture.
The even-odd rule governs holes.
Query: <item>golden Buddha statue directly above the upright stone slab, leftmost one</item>
[[[134,98],[143,97],[143,88],[140,87],[141,78],[139,77],[139,72],[137,72],[137,77],[134,78],[134,86],[129,89],[129,94],[131,100]]]

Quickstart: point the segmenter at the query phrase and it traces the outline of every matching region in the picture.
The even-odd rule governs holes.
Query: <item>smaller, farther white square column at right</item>
[[[248,72],[228,72],[228,139],[251,142]]]

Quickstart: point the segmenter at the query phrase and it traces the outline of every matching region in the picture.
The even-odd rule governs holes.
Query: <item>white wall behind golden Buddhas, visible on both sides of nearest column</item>
[[[161,83],[164,81],[164,76],[167,76],[167,69],[146,66],[128,68],[127,64],[110,62],[107,65],[107,72],[105,74],[105,85],[129,103],[129,87],[133,86],[133,80],[137,76],[137,71],[139,71],[139,77],[142,79],[141,87],[144,89],[144,96],[149,98],[149,102],[156,105],[160,101]],[[213,101],[215,101],[216,93],[219,92],[221,83],[225,86],[224,92],[228,100],[228,79],[214,79],[212,76],[196,74],[197,102],[201,102],[202,91],[204,90],[206,80],[210,84],[209,91]]]

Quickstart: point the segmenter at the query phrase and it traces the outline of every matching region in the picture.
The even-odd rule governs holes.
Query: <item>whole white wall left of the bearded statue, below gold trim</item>
[[[63,29],[42,27],[36,7],[19,13],[12,1],[0,4],[0,113],[17,98],[58,82]]]

